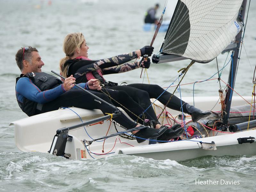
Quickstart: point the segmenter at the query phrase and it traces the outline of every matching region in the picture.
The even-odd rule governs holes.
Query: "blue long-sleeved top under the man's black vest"
[[[79,83],[78,85],[86,89],[85,83]],[[72,89],[78,88],[74,86]],[[24,97],[37,103],[47,103],[56,99],[64,92],[66,90],[63,84],[50,90],[41,91],[28,77],[20,78],[16,84],[16,96],[21,103],[23,103]]]

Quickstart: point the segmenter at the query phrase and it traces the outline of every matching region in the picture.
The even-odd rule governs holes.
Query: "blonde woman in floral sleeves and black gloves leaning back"
[[[143,109],[147,109],[146,115],[149,115],[156,121],[156,128],[160,128],[160,123],[157,121],[156,114],[151,106],[150,99],[157,99],[161,95],[158,100],[165,105],[172,96],[171,93],[164,91],[163,88],[154,84],[128,84],[126,86],[119,86],[117,83],[106,81],[103,77],[103,75],[122,73],[140,67],[149,68],[149,59],[147,61],[143,59],[134,62],[129,61],[134,60],[140,56],[144,56],[145,54],[151,56],[154,47],[144,46],[139,50],[129,52],[127,54],[117,55],[108,59],[101,60],[90,60],[88,58],[88,49],[89,47],[87,46],[86,40],[82,33],[71,33],[66,36],[63,43],[63,51],[65,52],[66,57],[60,60],[60,71],[63,76],[68,77],[70,75],[74,75],[74,77],[76,77],[76,81],[79,83],[87,82],[90,79],[96,78],[105,85],[105,88],[108,88],[108,91],[124,91]],[[109,92],[110,95],[112,92]],[[111,95],[111,97],[112,96],[114,98],[115,95]],[[125,103],[126,106],[130,106],[130,101],[127,102],[126,98],[123,100],[122,98],[118,100],[118,97],[116,96],[114,99],[119,101],[124,106]],[[181,106],[183,107],[184,113],[191,115],[193,122],[196,122],[199,119],[211,114],[210,111],[202,111],[192,105],[189,105],[188,103],[180,100],[175,95],[172,96],[172,99],[167,105],[168,108],[177,111],[181,111]]]

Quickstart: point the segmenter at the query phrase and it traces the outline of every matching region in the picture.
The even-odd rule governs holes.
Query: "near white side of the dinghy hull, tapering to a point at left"
[[[118,149],[115,154],[136,155],[157,160],[172,159],[175,161],[184,161],[208,155],[256,155],[256,142],[243,144],[238,143],[237,139],[244,137],[256,138],[256,130],[200,139],[182,140],[178,142],[159,143],[146,147],[137,146],[133,148],[122,148]],[[214,141],[217,150],[205,150],[199,148],[199,141],[207,143]]]

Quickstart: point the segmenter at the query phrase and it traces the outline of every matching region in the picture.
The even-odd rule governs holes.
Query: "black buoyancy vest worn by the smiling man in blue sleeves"
[[[21,74],[20,77],[16,78],[16,84],[18,80],[22,77],[28,77],[31,79],[31,81],[41,90],[41,91],[46,91],[49,89],[53,89],[60,84],[62,84],[62,81],[58,79],[55,76],[49,75],[44,72],[40,73],[27,73],[26,75]],[[16,89],[16,85],[15,85]],[[16,95],[17,98],[17,95]],[[36,115],[36,109],[37,110],[42,110],[43,104],[37,103],[35,101],[28,100],[26,97],[24,97],[23,102],[21,103],[18,98],[17,98],[19,107],[21,110],[26,113],[28,116],[33,116]]]

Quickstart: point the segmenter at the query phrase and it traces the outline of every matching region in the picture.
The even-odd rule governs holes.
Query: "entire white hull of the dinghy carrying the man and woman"
[[[188,103],[193,103],[192,97],[182,99]],[[202,110],[209,110],[215,106],[218,99],[218,97],[196,97],[195,106]],[[249,97],[246,98],[246,100],[249,99]],[[163,107],[163,105],[159,102],[156,102],[156,104],[160,107]],[[232,98],[233,106],[243,104],[246,104],[246,102],[240,97]],[[217,104],[212,110],[218,111],[219,109],[220,105]],[[79,114],[83,121],[88,121],[103,116],[100,110],[86,110],[81,108],[72,108],[72,110]],[[168,108],[167,110],[172,114],[172,116],[177,116],[180,113]],[[161,111],[161,108],[156,107],[156,114],[159,114]],[[14,124],[15,142],[21,151],[48,152],[51,148],[52,141],[57,129],[69,127],[79,123],[81,123],[81,121],[74,112],[69,109],[59,109],[56,111],[51,111],[48,113],[14,121],[11,123],[11,125]],[[109,123],[110,121],[104,121],[103,124],[96,124],[93,126],[85,127],[91,138],[88,137],[84,127],[69,131],[68,134],[73,136],[73,140],[67,141],[65,153],[70,154],[70,158],[72,159],[92,158],[90,155],[92,155],[93,158],[106,156],[89,154],[81,140],[92,140],[92,138],[97,139],[105,136],[109,127]],[[164,121],[163,124],[165,123],[166,122]],[[118,131],[122,131],[122,129],[118,128]],[[116,133],[116,130],[112,123],[108,135],[113,133]],[[115,145],[115,147],[111,150],[111,152],[115,152],[115,154],[137,155],[159,160],[171,159],[176,161],[182,161],[205,155],[256,155],[256,142],[238,144],[237,141],[237,138],[240,137],[251,136],[256,138],[256,130],[236,132],[234,134],[223,134],[224,133],[218,133],[219,136],[193,139],[203,142],[214,141],[217,147],[217,150],[215,151],[199,148],[197,144],[198,142],[195,141],[183,140],[177,142],[148,145],[148,141],[138,144],[136,140],[128,140],[121,137],[108,138],[104,144],[104,152],[102,152],[103,142],[94,141],[90,145],[90,151],[96,154],[104,154],[109,152]],[[109,153],[107,155],[109,155]]]

